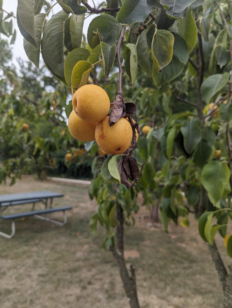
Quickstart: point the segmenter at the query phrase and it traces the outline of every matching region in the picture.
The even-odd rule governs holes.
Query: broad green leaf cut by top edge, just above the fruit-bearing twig
[[[132,25],[144,21],[154,10],[147,0],[125,0],[117,15],[118,22]]]

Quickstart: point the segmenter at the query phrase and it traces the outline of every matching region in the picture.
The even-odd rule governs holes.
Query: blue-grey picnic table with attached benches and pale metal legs
[[[36,218],[39,218],[41,220],[49,221],[55,225],[63,226],[67,222],[66,217],[66,210],[72,209],[70,206],[63,206],[63,207],[52,207],[53,198],[57,197],[63,197],[64,195],[62,193],[54,193],[51,191],[40,191],[40,192],[31,192],[31,193],[15,193],[15,194],[7,194],[7,195],[0,195],[0,219],[4,220],[11,220],[11,234],[6,234],[4,232],[0,231],[0,235],[3,237],[6,237],[8,239],[12,238],[15,234],[15,218],[20,217],[27,217],[27,216],[34,216]],[[38,202],[42,202],[44,205],[44,209],[35,209],[35,204]],[[20,212],[20,213],[13,213],[8,215],[3,215],[4,211],[11,206],[14,205],[23,205],[23,204],[29,204],[32,203],[32,209],[31,211],[27,212]],[[63,212],[63,222],[56,221],[51,219],[50,217],[47,217],[48,213],[52,212]],[[46,214],[46,216],[42,216],[43,214]]]

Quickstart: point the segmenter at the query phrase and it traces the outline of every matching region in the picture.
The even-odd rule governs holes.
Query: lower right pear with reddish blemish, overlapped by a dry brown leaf
[[[99,147],[108,154],[123,154],[132,140],[131,124],[120,118],[114,125],[109,125],[109,116],[98,122],[95,138]]]

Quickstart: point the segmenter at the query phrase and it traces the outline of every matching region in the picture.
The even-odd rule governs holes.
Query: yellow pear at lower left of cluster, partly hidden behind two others
[[[71,135],[79,141],[95,140],[96,123],[83,121],[73,110],[68,118],[68,129]]]

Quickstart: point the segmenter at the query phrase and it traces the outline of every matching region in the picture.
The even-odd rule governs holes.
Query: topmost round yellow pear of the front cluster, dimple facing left
[[[74,93],[72,106],[80,119],[97,123],[108,115],[110,99],[101,87],[95,84],[86,84]]]

